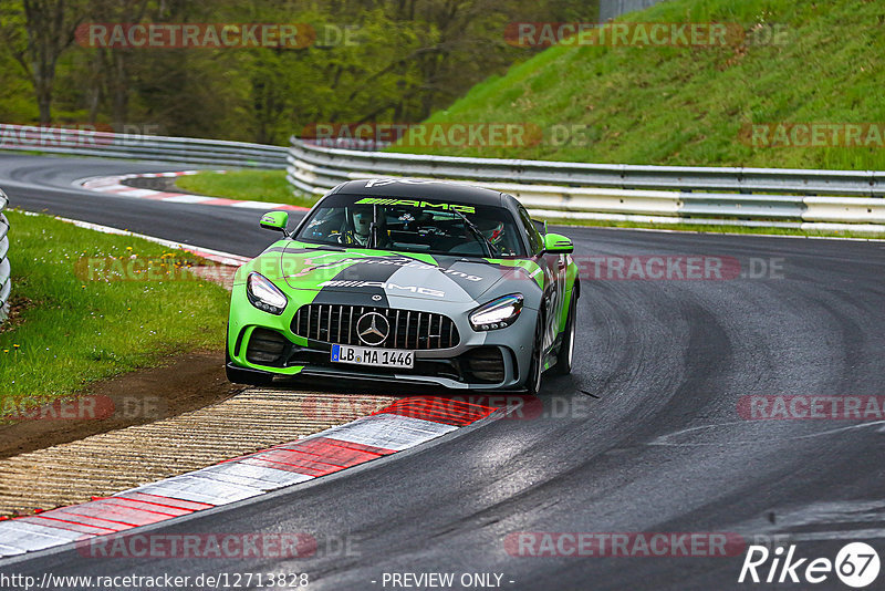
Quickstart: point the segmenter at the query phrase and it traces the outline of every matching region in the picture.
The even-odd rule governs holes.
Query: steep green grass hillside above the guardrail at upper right
[[[539,145],[403,152],[569,162],[884,169],[883,148],[764,148],[747,124],[885,124],[885,3],[671,0],[626,20],[787,25],[785,43],[728,48],[554,46],[473,87],[430,122],[529,123]],[[554,145],[554,125],[590,142]]]

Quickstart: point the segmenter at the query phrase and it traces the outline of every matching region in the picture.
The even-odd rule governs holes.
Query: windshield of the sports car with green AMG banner
[[[315,245],[464,257],[524,257],[513,215],[503,207],[334,195],[296,240]]]

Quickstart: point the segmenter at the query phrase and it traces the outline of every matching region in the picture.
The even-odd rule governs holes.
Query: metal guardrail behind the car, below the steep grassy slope
[[[309,194],[358,178],[445,178],[509,193],[548,218],[885,232],[881,172],[460,158],[329,148],[294,136],[291,144],[287,179]]]

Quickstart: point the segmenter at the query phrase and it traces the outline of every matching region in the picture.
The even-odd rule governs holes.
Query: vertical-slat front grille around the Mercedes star
[[[389,324],[387,338],[373,346],[427,351],[451,349],[460,342],[458,328],[444,314],[368,305],[303,305],[292,319],[292,332],[319,343],[366,345],[360,340],[356,324],[369,312],[382,314]]]

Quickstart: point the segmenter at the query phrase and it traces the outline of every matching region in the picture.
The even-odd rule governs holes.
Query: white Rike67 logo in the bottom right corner
[[[852,542],[843,547],[836,559],[799,558],[795,546],[773,551],[764,546],[750,546],[738,582],[743,583],[810,583],[819,584],[832,580],[833,574],[854,589],[870,587],[878,578],[881,563],[878,553],[864,542]]]

